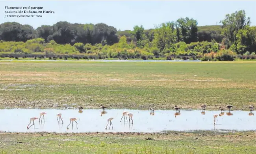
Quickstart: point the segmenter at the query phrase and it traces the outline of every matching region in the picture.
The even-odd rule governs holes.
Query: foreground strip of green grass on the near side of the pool
[[[255,132],[0,133],[1,154],[254,154]],[[148,140],[152,139],[152,140]]]

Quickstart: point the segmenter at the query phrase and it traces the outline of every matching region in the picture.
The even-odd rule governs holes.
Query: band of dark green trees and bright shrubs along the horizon
[[[155,29],[143,26],[117,31],[106,24],[57,22],[33,29],[6,22],[0,25],[0,56],[35,59],[255,59],[256,27],[240,10],[226,14],[220,25],[197,26],[180,18]]]

